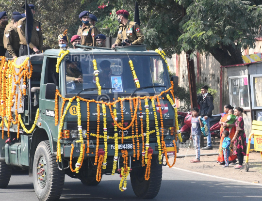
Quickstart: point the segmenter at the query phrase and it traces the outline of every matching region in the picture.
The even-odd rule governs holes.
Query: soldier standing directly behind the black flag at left
[[[29,4],[33,15],[35,14],[34,5]],[[22,7],[25,9],[25,5]],[[25,37],[25,27],[26,27],[26,17],[20,19],[17,23],[17,31],[20,37],[20,49],[19,49],[19,56],[28,55],[27,52],[27,43]],[[38,20],[33,19],[33,30],[32,30],[32,37],[31,43],[29,44],[29,51],[30,54],[34,52],[39,54],[43,50],[43,34],[41,30],[41,22]]]

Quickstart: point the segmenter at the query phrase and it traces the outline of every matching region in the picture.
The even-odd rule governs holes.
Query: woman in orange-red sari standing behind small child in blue
[[[235,125],[235,122],[233,124],[229,124],[227,125],[227,123],[225,123],[225,121],[227,120],[228,116],[229,116],[229,109],[233,109],[232,106],[230,105],[225,105],[224,106],[224,112],[222,114],[222,117],[219,121],[219,124],[221,124],[221,128],[220,128],[220,145],[219,145],[219,150],[222,149],[222,142],[223,142],[223,136],[222,136],[222,132],[223,132],[223,127],[227,127],[226,130],[229,131],[229,127],[232,127],[232,130],[231,130],[231,133],[229,134],[229,138],[232,140],[234,135],[235,135],[235,132],[236,132],[236,125]],[[233,148],[233,143],[231,143],[230,145],[230,148],[232,149]],[[232,163],[235,165],[236,163],[236,158],[237,156],[236,155],[232,155],[232,156],[229,156],[229,164]],[[225,165],[225,160],[224,160],[224,155],[223,155],[223,152],[219,152],[219,155],[217,157],[217,163],[219,163],[220,165]]]

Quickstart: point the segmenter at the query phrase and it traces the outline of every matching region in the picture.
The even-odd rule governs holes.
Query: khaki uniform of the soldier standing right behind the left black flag
[[[31,43],[29,44],[29,47],[33,49],[33,47],[38,47],[40,52],[43,50],[43,34],[41,30],[41,23],[35,19],[33,19],[33,31],[32,31],[32,37],[31,37]],[[26,17],[20,19],[17,22],[17,31],[20,37],[20,44],[21,45],[27,45],[26,43],[26,37],[25,37],[25,27],[26,27]]]

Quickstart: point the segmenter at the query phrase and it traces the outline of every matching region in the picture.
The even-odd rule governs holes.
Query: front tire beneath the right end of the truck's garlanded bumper
[[[131,185],[135,195],[142,199],[153,199],[157,196],[162,182],[162,165],[157,164],[157,155],[151,161],[151,173],[145,180],[146,167],[135,168],[130,173]]]

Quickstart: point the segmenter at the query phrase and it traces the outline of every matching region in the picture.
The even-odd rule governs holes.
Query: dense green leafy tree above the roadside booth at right
[[[254,48],[262,22],[261,1],[180,0],[187,3],[180,23],[181,50],[211,53],[221,65],[243,63],[242,51]]]

